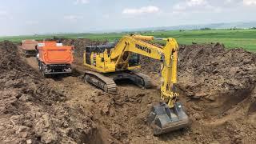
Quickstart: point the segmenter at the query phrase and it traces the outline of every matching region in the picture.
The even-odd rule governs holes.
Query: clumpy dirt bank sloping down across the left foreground
[[[91,114],[65,104],[18,55],[0,42],[0,143],[100,142]]]

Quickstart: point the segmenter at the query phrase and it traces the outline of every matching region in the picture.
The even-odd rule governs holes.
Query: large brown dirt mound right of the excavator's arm
[[[250,97],[256,86],[256,55],[224,46],[192,45],[180,49],[179,85],[190,98],[204,98],[213,114]],[[218,109],[217,109],[218,107]],[[209,111],[209,112],[210,112]]]

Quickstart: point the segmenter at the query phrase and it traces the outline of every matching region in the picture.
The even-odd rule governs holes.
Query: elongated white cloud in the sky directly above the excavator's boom
[[[126,8],[122,10],[122,14],[152,14],[157,13],[159,8],[157,6],[143,6],[138,9],[129,9]]]

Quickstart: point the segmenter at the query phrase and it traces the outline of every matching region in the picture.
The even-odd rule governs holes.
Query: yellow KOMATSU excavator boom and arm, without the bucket
[[[148,41],[164,40],[166,46],[160,46]],[[116,67],[126,69],[129,56],[124,58],[126,52],[154,58],[162,62],[161,66],[161,98],[170,107],[174,107],[174,102],[178,98],[175,90],[177,83],[178,65],[178,43],[174,38],[154,38],[152,36],[130,35],[123,37],[110,54],[110,58],[115,62]]]

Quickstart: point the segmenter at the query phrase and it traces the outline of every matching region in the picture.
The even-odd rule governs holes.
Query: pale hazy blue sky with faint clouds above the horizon
[[[0,35],[256,21],[256,0],[2,0]]]

